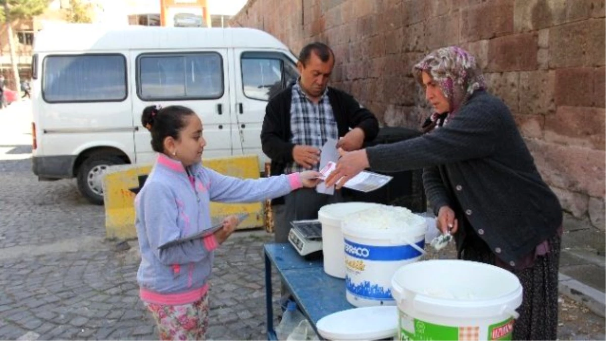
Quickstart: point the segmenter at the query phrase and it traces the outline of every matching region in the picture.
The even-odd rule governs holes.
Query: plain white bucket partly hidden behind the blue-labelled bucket
[[[341,220],[350,214],[378,206],[375,203],[338,203],[323,206],[318,211],[322,223],[322,254],[324,272],[339,279],[345,278],[345,253]]]

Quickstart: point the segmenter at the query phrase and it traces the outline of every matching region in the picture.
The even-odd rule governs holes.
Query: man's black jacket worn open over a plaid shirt
[[[263,152],[271,158],[271,175],[284,173],[288,163],[293,162],[293,148],[290,143],[290,104],[293,86],[271,98],[265,107],[265,118],[261,129]],[[372,141],[379,132],[379,122],[375,115],[362,107],[351,95],[333,87],[328,87],[328,100],[335,115],[339,137],[350,129],[359,127],[364,130],[365,141]],[[282,203],[282,198],[274,199],[273,204]]]

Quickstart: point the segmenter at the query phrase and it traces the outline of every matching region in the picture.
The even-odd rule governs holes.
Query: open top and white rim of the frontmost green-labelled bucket
[[[447,280],[445,280],[447,279]],[[468,260],[425,260],[391,278],[396,303],[444,317],[516,317],[522,303],[518,277],[498,266]]]

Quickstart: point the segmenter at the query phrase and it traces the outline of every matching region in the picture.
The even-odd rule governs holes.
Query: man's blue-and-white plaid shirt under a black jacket
[[[290,142],[321,148],[329,138],[339,137],[333,108],[328,100],[328,88],[318,103],[313,103],[301,89],[299,81],[293,86],[293,98],[290,104]],[[319,164],[313,167],[318,170]],[[285,174],[306,170],[296,162],[288,164]]]

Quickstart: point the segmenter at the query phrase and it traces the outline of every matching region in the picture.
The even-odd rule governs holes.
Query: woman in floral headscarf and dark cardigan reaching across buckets
[[[542,180],[510,110],[485,91],[476,59],[459,47],[431,52],[413,67],[435,112],[425,134],[349,152],[327,185],[361,170],[423,168],[438,228],[464,260],[516,274],[524,296],[514,340],[555,340],[562,209]],[[444,286],[448,279],[444,280]]]

